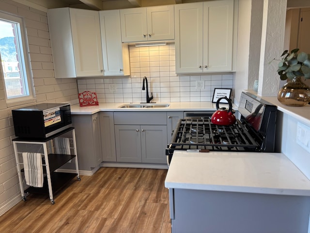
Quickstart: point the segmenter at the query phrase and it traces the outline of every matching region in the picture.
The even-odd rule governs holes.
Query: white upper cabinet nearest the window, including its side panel
[[[47,11],[56,78],[103,76],[98,11]]]

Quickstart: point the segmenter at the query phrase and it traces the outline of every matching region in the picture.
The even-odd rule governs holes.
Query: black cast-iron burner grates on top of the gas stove
[[[220,126],[208,118],[180,119],[172,135],[175,149],[256,150],[258,143],[237,120],[233,125]]]

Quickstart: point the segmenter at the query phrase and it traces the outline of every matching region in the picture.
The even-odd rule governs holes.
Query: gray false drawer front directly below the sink
[[[115,125],[167,125],[166,112],[114,112]]]

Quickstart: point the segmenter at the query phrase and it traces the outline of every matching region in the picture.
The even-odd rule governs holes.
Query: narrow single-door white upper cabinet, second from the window
[[[120,10],[100,11],[105,76],[130,75],[128,45],[122,44]]]

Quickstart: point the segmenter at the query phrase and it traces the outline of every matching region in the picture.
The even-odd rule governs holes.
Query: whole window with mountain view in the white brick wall
[[[0,13],[0,68],[7,102],[32,98],[26,45],[22,19]]]

